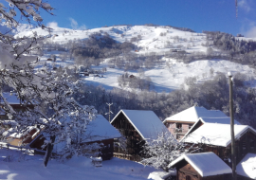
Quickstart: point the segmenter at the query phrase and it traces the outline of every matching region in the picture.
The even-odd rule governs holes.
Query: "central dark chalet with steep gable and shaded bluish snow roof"
[[[114,155],[139,161],[142,146],[147,139],[155,139],[160,132],[168,131],[153,111],[120,110],[111,124],[126,138],[127,150],[115,148]]]

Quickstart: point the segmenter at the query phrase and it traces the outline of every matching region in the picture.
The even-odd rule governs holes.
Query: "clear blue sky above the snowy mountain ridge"
[[[197,32],[219,30],[256,37],[256,0],[48,0],[55,16],[45,24],[94,28],[113,25],[171,25]]]

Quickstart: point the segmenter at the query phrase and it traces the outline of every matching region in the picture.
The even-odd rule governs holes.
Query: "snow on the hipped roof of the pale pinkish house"
[[[187,121],[196,122],[199,117],[227,117],[222,111],[219,110],[207,110],[204,107],[192,106],[180,113],[175,114],[172,117],[167,117],[166,120],[174,121]]]

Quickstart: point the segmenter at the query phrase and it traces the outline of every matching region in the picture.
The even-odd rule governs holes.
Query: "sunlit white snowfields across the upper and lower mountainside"
[[[41,28],[34,28],[33,31],[37,31],[38,35],[48,36],[48,32]],[[137,50],[133,53],[137,55],[145,55],[150,53],[156,53],[156,55],[163,55],[161,63],[156,65],[155,68],[144,69],[144,75],[150,77],[153,82],[151,90],[156,92],[170,92],[174,89],[180,88],[184,81],[191,77],[195,78],[195,82],[202,82],[212,79],[218,73],[232,72],[247,74],[247,82],[255,86],[254,81],[250,81],[254,76],[254,69],[248,65],[242,65],[240,63],[231,63],[227,60],[200,60],[192,63],[182,63],[168,58],[165,56],[174,49],[179,51],[186,51],[188,54],[192,53],[207,53],[206,34],[195,33],[189,31],[181,31],[174,29],[173,27],[147,27],[147,26],[116,26],[116,27],[100,27],[87,30],[73,30],[62,27],[52,27],[51,36],[48,37],[48,41],[64,44],[69,40],[86,39],[89,35],[100,32],[108,33],[114,40],[119,43],[133,42],[137,45]],[[17,35],[22,37],[29,35],[32,32],[24,29]],[[244,40],[246,38],[243,38]],[[218,49],[212,49],[214,52],[219,52]],[[43,64],[51,54],[57,55],[56,65],[70,65],[72,62],[61,62],[58,57],[59,52],[45,52],[44,57],[41,59]],[[99,66],[93,66],[93,69],[107,68],[103,78],[100,77],[87,77],[83,78],[85,81],[102,85],[106,89],[112,89],[113,87],[119,87],[118,77],[124,73],[123,69],[118,67],[109,68],[108,62],[110,59],[105,59]],[[50,63],[50,62],[47,62]],[[129,74],[138,76],[137,70],[128,70]]]

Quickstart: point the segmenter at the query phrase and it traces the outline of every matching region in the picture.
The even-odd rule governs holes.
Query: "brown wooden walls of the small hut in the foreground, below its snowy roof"
[[[177,163],[176,180],[231,180],[231,173],[202,177],[186,160]]]

